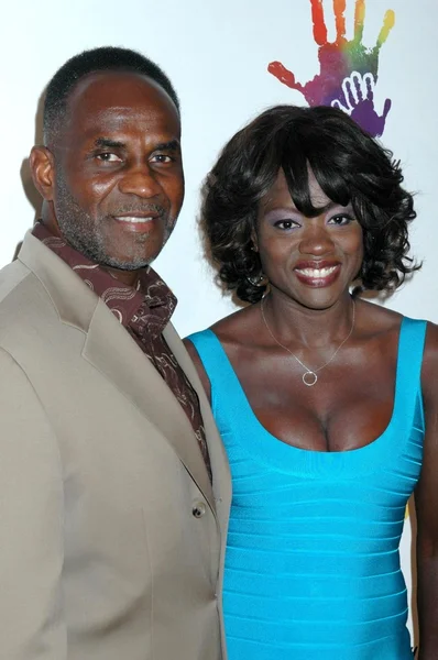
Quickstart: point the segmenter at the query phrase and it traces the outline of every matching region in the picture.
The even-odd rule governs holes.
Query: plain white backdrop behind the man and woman
[[[199,187],[225,141],[251,117],[275,103],[305,105],[298,91],[267,73],[267,65],[281,61],[304,82],[318,73],[309,0],[21,0],[7,6],[0,40],[0,266],[11,260],[34,217],[24,193],[24,187],[31,189],[24,161],[35,141],[44,86],[81,50],[133,47],[156,59],[182,100],[186,201],[155,264],[179,299],[176,327],[184,336],[228,314],[232,304],[212,284],[201,254],[196,226]],[[324,7],[333,38],[331,0]],[[437,322],[438,6],[436,0],[368,0],[365,45],[375,44],[387,9],[395,12],[395,26],[381,51],[375,107],[382,113],[384,100],[392,99],[382,142],[402,161],[406,186],[417,193],[412,245],[424,260],[423,271],[387,305]],[[354,0],[347,0],[347,36],[352,36],[353,11]],[[409,542],[406,526],[402,554],[408,583]]]

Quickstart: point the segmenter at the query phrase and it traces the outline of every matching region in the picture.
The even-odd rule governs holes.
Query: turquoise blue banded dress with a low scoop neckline
[[[421,468],[425,330],[403,319],[392,419],[371,444],[346,452],[278,441],[216,334],[189,337],[211,382],[233,483],[229,660],[412,660],[398,546]]]

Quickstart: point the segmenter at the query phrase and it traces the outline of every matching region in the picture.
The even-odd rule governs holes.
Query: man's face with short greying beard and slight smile
[[[135,73],[80,80],[53,147],[52,215],[59,233],[90,260],[122,271],[150,264],[184,198],[177,110]]]

